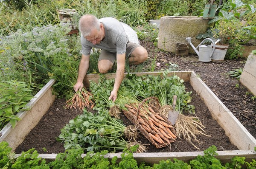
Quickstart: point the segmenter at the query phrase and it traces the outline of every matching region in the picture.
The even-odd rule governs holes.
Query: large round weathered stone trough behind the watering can
[[[196,39],[196,36],[206,32],[208,22],[208,19],[196,16],[161,17],[157,47],[175,53],[177,43],[187,44],[186,37],[191,37],[192,44],[198,46],[202,40]],[[189,47],[189,54],[195,54],[191,47]]]

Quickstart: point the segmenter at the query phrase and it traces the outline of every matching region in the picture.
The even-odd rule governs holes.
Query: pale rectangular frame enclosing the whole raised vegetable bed
[[[136,73],[137,76],[151,74],[159,75],[162,72],[147,72]],[[230,141],[238,147],[236,151],[217,151],[218,156],[223,163],[230,162],[230,159],[234,156],[245,157],[247,161],[251,161],[256,158],[256,152],[253,150],[256,146],[256,139],[245,129],[245,127],[238,121],[238,119],[227,109],[227,107],[218,99],[217,96],[205,85],[205,83],[195,74],[193,71],[177,71],[170,72],[169,76],[177,75],[185,82],[190,82],[193,89],[198,93],[201,99],[204,101],[209,111],[212,114],[218,124],[225,130],[226,135],[230,138]],[[115,78],[115,74],[106,74],[108,79]],[[84,85],[89,87],[89,80],[97,82],[99,79],[98,74],[88,74],[84,79]],[[24,115],[20,115],[22,118],[17,122],[14,129],[11,127],[4,128],[1,131],[0,141],[9,142],[10,146],[15,149],[26,137],[29,131],[35,127],[40,118],[47,112],[49,106],[53,103],[55,96],[51,93],[51,86],[54,80],[51,80],[47,85],[40,90],[35,99],[32,99],[30,105],[34,106],[26,112]],[[39,96],[40,95],[40,96]],[[37,100],[37,101],[35,101]],[[41,105],[42,109],[37,108]],[[48,160],[56,158],[57,154],[40,154],[39,157]],[[177,158],[184,162],[189,162],[197,155],[204,155],[203,152],[157,152],[157,153],[134,153],[134,158],[138,163],[159,163],[161,160]],[[82,155],[84,156],[84,154]],[[118,157],[121,160],[121,153],[108,153],[105,158]]]

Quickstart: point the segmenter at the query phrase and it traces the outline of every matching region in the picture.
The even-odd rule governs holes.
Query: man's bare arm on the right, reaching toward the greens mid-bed
[[[109,97],[109,100],[112,99],[113,102],[116,101],[118,89],[125,76],[125,54],[117,54],[116,62],[117,62],[116,79],[115,79],[114,88],[111,91],[111,94]]]

